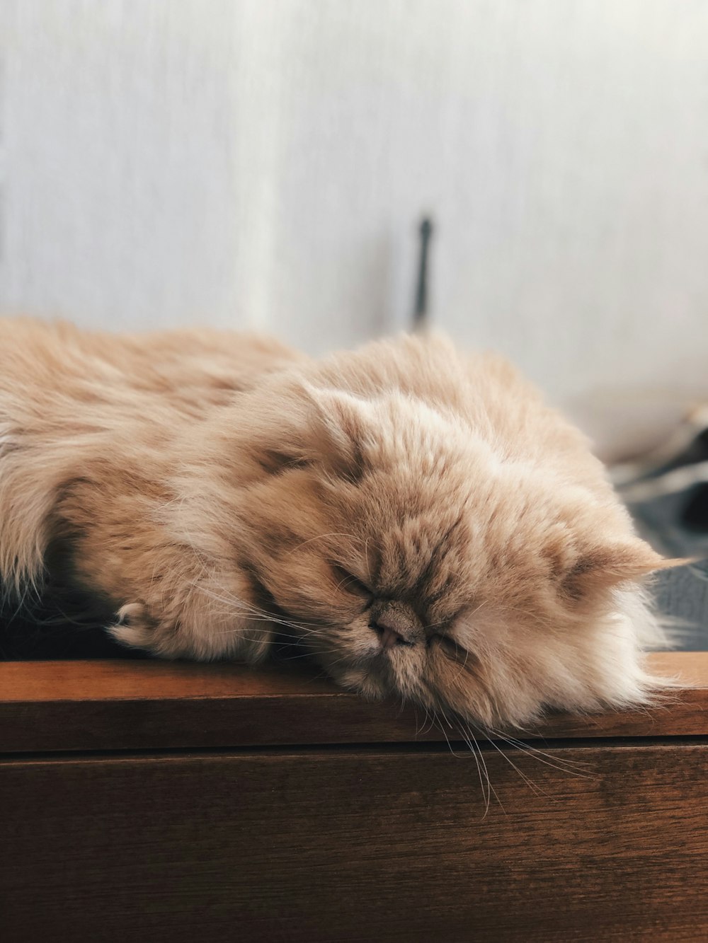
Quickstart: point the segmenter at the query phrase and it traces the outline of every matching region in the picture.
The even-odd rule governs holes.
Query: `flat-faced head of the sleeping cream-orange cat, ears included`
[[[332,678],[488,727],[641,699],[618,587],[660,560],[606,491],[397,394],[312,394],[305,426],[261,448],[248,566]]]

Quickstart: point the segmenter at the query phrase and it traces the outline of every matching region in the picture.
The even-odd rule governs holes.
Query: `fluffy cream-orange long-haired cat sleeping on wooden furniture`
[[[257,662],[480,725],[645,703],[662,634],[580,432],[496,356],[400,337],[312,360],[226,332],[0,321],[0,576],[50,547],[128,646]]]

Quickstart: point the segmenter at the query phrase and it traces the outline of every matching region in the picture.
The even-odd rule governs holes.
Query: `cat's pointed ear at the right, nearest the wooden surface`
[[[638,538],[586,548],[565,571],[562,590],[571,599],[641,580],[649,573],[681,567],[687,560],[665,559]]]

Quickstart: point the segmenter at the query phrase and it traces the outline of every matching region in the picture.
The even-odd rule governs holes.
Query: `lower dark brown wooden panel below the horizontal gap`
[[[486,816],[438,745],[1,762],[4,936],[708,938],[708,747],[484,756]]]

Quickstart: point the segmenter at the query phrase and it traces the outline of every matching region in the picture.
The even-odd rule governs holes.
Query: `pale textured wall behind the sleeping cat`
[[[465,343],[564,400],[708,389],[702,0],[0,11],[3,307],[321,350],[406,322],[430,211]]]

